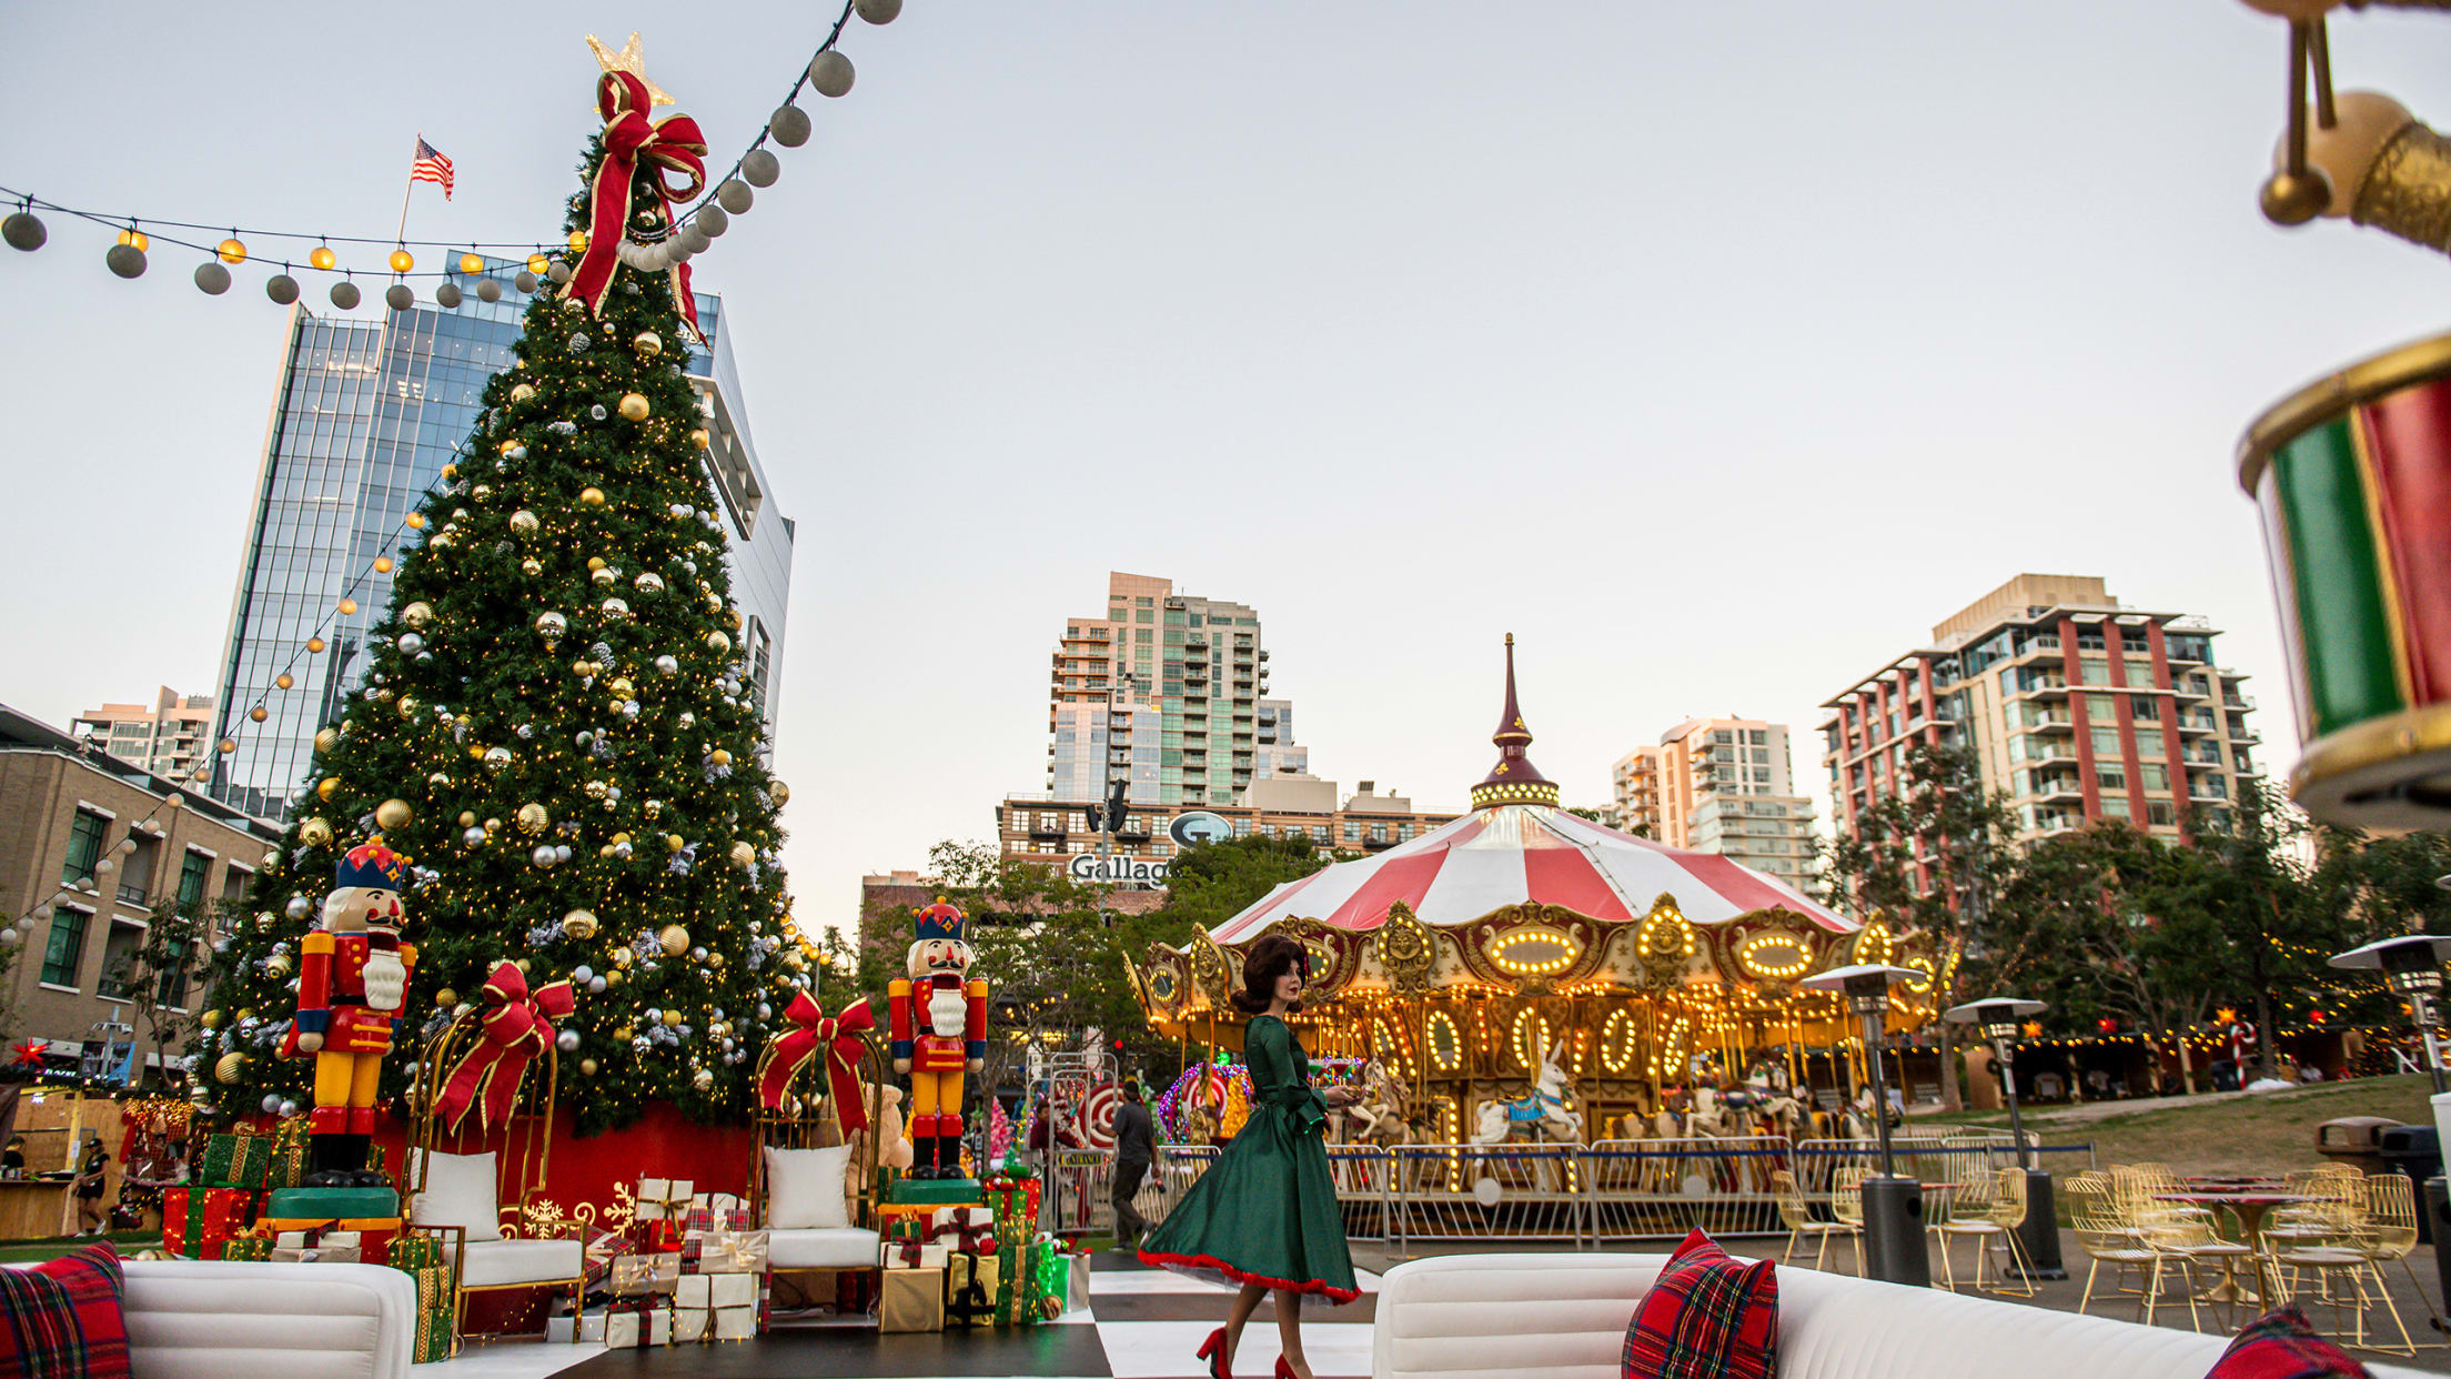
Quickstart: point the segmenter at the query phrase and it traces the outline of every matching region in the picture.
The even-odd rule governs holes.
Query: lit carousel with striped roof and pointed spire
[[[1939,1016],[1929,935],[1851,920],[1735,861],[1569,815],[1527,756],[1515,638],[1498,766],[1473,810],[1375,856],[1326,866],[1186,947],[1132,967],[1150,1026],[1201,1055],[1179,1131],[1233,1134],[1228,989],[1262,935],[1311,952],[1292,1016],[1314,1060],[1358,1060],[1373,1143],[1681,1139],[1836,1129],[1863,1043],[1836,996],[1799,981],[1907,967],[1890,1031]],[[1223,1094],[1223,1097],[1221,1097]]]

